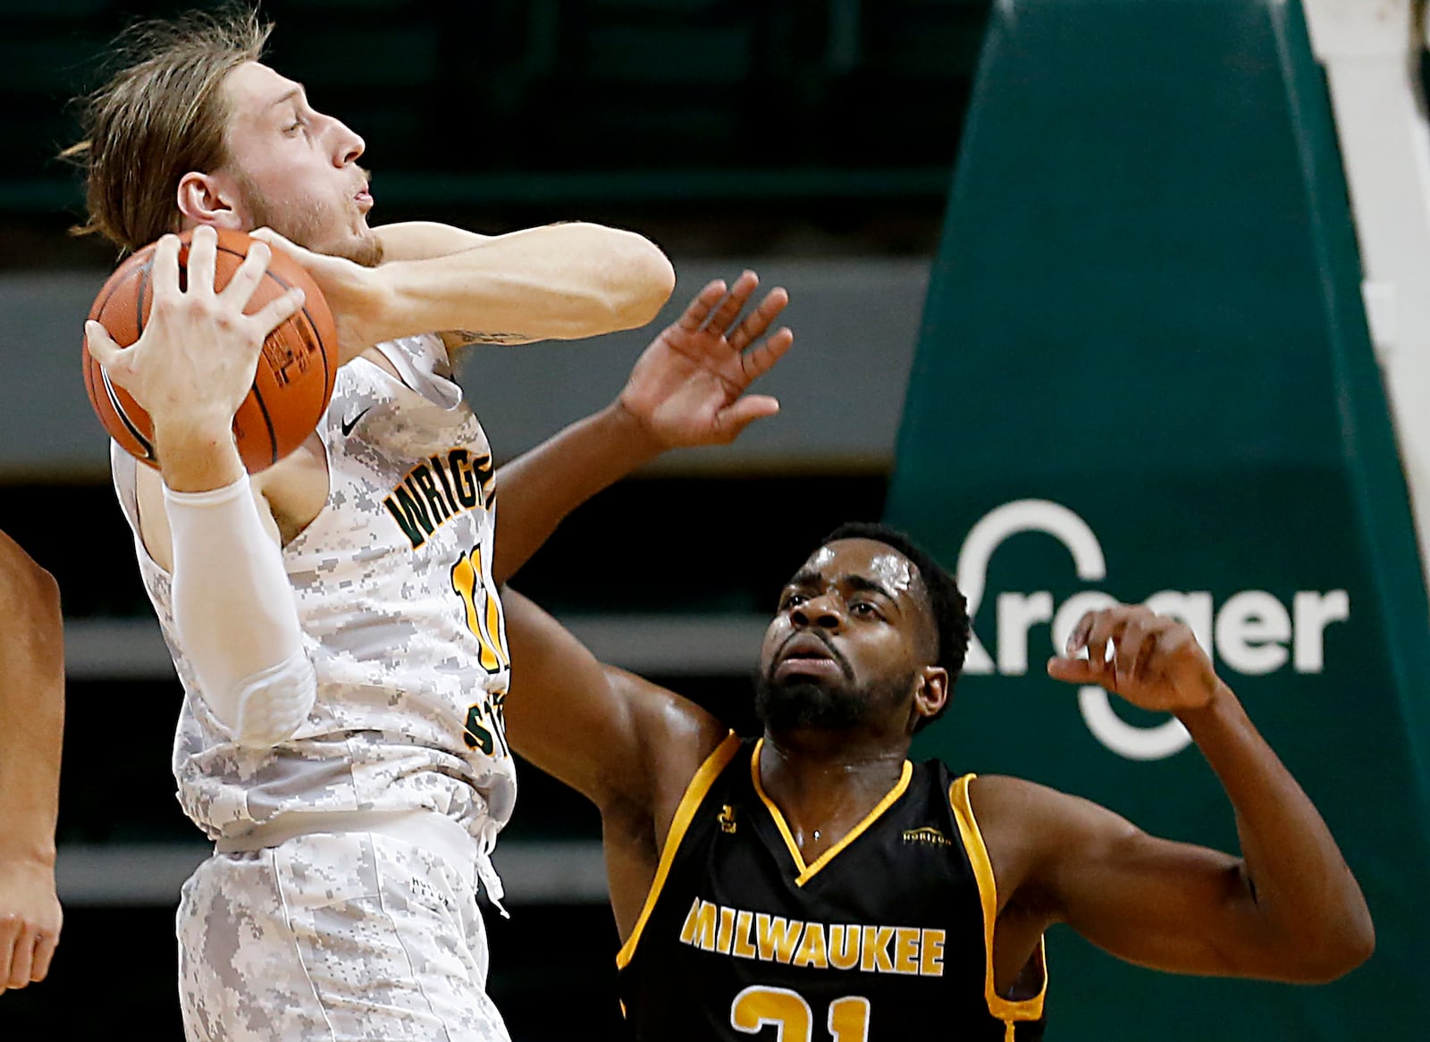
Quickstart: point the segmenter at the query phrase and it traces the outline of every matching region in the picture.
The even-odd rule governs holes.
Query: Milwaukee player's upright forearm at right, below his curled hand
[[[1330,979],[1374,948],[1370,910],[1320,812],[1220,685],[1205,709],[1178,715],[1216,770],[1258,918],[1304,979]]]

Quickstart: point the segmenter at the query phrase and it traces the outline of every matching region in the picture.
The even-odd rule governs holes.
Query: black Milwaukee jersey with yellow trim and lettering
[[[676,810],[616,958],[639,1042],[1041,1038],[1041,948],[1034,993],[994,992],[997,896],[971,775],[905,762],[868,818],[805,865],[758,765],[759,742],[731,735]]]

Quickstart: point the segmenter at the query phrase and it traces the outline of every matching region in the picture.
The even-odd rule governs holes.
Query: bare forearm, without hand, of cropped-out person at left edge
[[[0,536],[0,860],[54,865],[64,637],[54,579]]]

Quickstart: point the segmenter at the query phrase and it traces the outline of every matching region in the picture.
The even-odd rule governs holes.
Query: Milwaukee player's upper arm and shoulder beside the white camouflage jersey
[[[559,622],[505,587],[512,688],[506,736],[542,770],[602,809],[654,812],[676,793],[726,729],[695,703],[606,666]],[[678,798],[678,796],[676,796]]]

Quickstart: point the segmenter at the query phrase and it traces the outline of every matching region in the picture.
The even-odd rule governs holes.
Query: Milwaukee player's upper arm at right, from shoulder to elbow
[[[1001,905],[1027,900],[1111,955],[1165,972],[1310,982],[1346,971],[1277,928],[1240,858],[1150,836],[1021,779],[978,778],[970,795]]]

